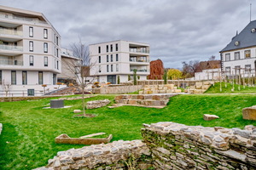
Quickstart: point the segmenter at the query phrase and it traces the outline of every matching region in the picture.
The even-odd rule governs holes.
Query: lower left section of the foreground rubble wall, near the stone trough
[[[147,156],[148,147],[141,140],[114,141],[109,144],[96,144],[81,149],[58,152],[46,167],[52,169],[147,169],[151,166]]]

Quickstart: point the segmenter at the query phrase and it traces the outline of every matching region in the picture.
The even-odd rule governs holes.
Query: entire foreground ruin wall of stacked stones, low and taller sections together
[[[144,124],[143,142],[114,141],[58,152],[49,169],[256,169],[256,127]]]

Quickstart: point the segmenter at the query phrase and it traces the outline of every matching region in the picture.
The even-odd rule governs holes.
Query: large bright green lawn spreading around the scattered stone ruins
[[[98,95],[86,99],[110,99],[114,95]],[[81,99],[66,100],[67,109],[43,109],[49,99],[0,103],[0,169],[32,169],[42,167],[60,150],[80,148],[83,145],[55,144],[55,137],[67,133],[78,138],[90,133],[113,134],[113,140],[142,139],[143,123],[179,122],[206,127],[244,127],[254,121],[243,120],[241,110],[255,105],[256,95],[178,95],[164,109],[107,106],[86,113],[93,118],[73,118],[73,110],[82,109]],[[214,114],[220,119],[203,121],[203,114]]]

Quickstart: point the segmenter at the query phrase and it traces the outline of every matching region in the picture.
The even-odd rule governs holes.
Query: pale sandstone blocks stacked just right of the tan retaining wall
[[[181,93],[181,89],[174,87],[174,84],[145,85],[139,94],[173,94]]]

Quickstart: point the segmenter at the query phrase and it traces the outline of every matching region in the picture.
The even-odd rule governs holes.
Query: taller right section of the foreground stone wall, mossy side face
[[[143,141],[156,169],[256,169],[256,127],[144,125]]]

